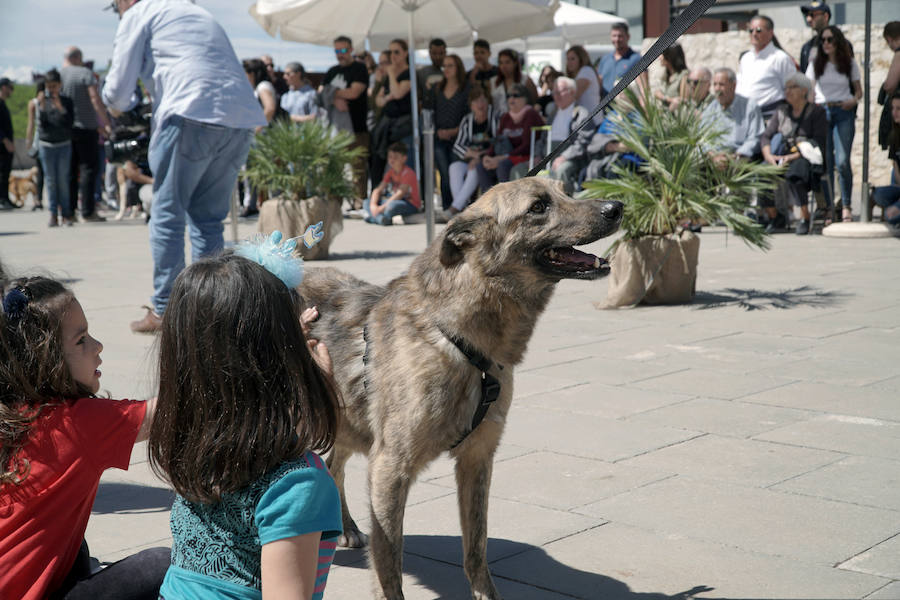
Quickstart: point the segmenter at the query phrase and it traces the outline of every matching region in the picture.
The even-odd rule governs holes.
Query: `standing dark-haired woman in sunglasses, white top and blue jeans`
[[[834,171],[837,168],[841,190],[841,219],[852,221],[850,194],[853,190],[853,171],[850,169],[850,148],[856,132],[856,105],[862,97],[859,84],[859,65],[850,53],[844,34],[830,25],[819,34],[816,58],[806,68],[806,76],[814,83],[811,99],[825,108],[828,114],[828,138],[825,148],[825,169],[828,174],[826,202],[833,206]]]

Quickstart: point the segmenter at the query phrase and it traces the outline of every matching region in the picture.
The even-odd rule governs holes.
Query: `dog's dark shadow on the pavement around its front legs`
[[[436,561],[441,565],[451,564],[459,569],[460,578],[465,578],[462,566],[462,542],[459,537],[446,535],[407,535],[404,536],[404,549],[407,554],[414,554],[426,561],[406,560],[403,564],[404,575],[415,577],[420,585],[428,587],[437,598],[458,597],[459,586],[452,580],[436,577],[430,568],[428,561]],[[494,582],[502,587],[502,582],[514,581],[523,585],[534,586],[538,590],[557,592],[570,595],[572,598],[585,600],[690,600],[695,594],[710,592],[713,588],[698,585],[690,590],[685,590],[674,595],[633,592],[628,585],[612,577],[600,573],[581,571],[565,565],[538,546],[514,542],[511,540],[490,538],[488,539],[489,553],[500,555],[502,558],[491,562],[491,572]],[[342,554],[348,554],[342,558]],[[368,561],[360,561],[360,550],[340,549],[335,556],[335,564],[344,564],[353,568],[365,569]],[[496,567],[499,563],[513,556],[528,553],[527,567],[521,574],[510,576],[508,571],[504,575],[498,573]],[[446,559],[435,559],[435,556],[445,556]],[[448,562],[452,561],[452,562]],[[424,568],[423,568],[424,567]],[[547,582],[552,582],[547,587]],[[705,599],[698,599],[705,600]],[[711,599],[710,599],[711,600]]]

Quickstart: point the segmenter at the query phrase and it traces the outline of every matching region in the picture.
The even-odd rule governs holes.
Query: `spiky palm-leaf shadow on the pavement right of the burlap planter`
[[[744,310],[786,309],[798,306],[828,308],[846,302],[851,295],[845,292],[820,290],[808,285],[779,292],[726,288],[716,292],[697,292],[693,304],[697,310],[728,306],[736,306]]]

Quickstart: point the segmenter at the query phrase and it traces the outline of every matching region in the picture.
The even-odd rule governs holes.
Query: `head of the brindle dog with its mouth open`
[[[525,270],[549,283],[597,279],[609,263],[573,246],[614,233],[621,221],[620,202],[575,200],[557,181],[519,179],[494,186],[450,220],[438,240],[440,260],[494,276]]]

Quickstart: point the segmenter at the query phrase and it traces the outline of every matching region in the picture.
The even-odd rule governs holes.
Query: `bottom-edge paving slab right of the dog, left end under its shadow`
[[[609,523],[492,564],[494,573],[590,600],[859,598],[889,580]],[[703,590],[709,591],[704,592]]]

